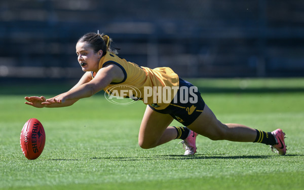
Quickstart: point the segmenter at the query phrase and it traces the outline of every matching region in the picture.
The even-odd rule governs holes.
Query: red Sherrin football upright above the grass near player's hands
[[[28,160],[38,158],[46,143],[46,133],[39,120],[31,118],[23,126],[20,135],[20,146]]]

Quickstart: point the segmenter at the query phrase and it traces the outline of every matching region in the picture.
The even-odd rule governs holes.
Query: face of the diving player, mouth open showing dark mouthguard
[[[98,71],[99,60],[102,56],[102,50],[94,53],[94,50],[85,42],[79,42],[76,45],[78,62],[83,71]]]

